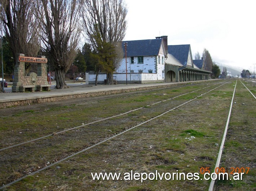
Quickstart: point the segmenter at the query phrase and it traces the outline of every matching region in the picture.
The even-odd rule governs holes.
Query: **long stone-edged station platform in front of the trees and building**
[[[211,80],[205,80],[211,81]],[[0,93],[0,108],[11,107],[23,104],[56,102],[66,99],[80,97],[91,97],[137,90],[156,89],[161,87],[172,87],[191,83],[202,83],[202,81],[170,82],[170,83],[149,83],[149,84],[116,84],[102,85],[67,82],[69,88],[54,89],[52,84],[50,91],[43,92],[5,92]]]

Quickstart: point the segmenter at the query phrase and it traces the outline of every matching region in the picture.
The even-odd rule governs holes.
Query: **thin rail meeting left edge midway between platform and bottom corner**
[[[220,82],[220,83],[222,83],[222,82]],[[220,83],[217,83],[217,84],[220,84]],[[228,82],[226,82],[226,83],[228,83]],[[214,84],[214,85],[217,85],[217,84]],[[57,134],[60,134],[60,133],[66,132],[66,131],[71,131],[71,130],[74,130],[74,129],[77,129],[77,128],[80,128],[80,127],[84,127],[84,126],[87,126],[87,125],[92,125],[92,124],[97,123],[97,122],[100,122],[100,121],[105,121],[105,120],[109,120],[109,119],[114,118],[114,117],[119,117],[119,116],[122,116],[122,115],[125,115],[125,114],[128,114],[128,113],[131,113],[131,112],[140,110],[140,109],[142,109],[142,108],[149,107],[149,106],[153,106],[153,105],[158,104],[158,103],[161,103],[161,102],[169,101],[169,100],[175,99],[175,98],[177,98],[177,97],[180,97],[180,96],[182,96],[182,95],[186,95],[186,94],[189,94],[189,93],[193,93],[193,92],[196,92],[196,91],[198,91],[198,90],[205,89],[205,88],[209,88],[209,87],[211,87],[211,86],[204,87],[204,88],[200,88],[200,89],[194,90],[194,91],[192,91],[192,92],[188,92],[188,93],[185,93],[185,94],[181,94],[181,95],[178,95],[178,96],[176,96],[176,97],[169,98],[169,99],[165,99],[165,100],[163,100],[163,101],[159,101],[159,102],[156,102],[156,103],[151,103],[151,104],[149,104],[149,105],[147,105],[147,106],[143,106],[143,107],[140,107],[140,108],[136,108],[136,109],[134,109],[134,110],[131,110],[131,111],[128,111],[128,112],[125,112],[125,113],[121,113],[121,114],[119,114],[119,115],[115,115],[115,116],[103,118],[103,119],[101,119],[101,120],[93,121],[93,122],[90,122],[90,123],[88,123],[88,124],[84,124],[84,125],[72,127],[72,128],[70,128],[70,129],[66,129],[66,130],[59,131],[59,132],[54,132],[54,134],[45,135],[45,136],[42,136],[42,137],[39,137],[39,138],[36,138],[36,139],[32,139],[32,140],[28,140],[28,141],[25,141],[25,142],[22,142],[22,143],[18,143],[18,144],[15,144],[15,145],[11,145],[11,146],[8,146],[8,147],[5,147],[5,148],[0,149],[0,151],[6,150],[6,149],[10,149],[10,148],[13,148],[13,147],[16,147],[16,146],[24,145],[24,144],[27,144],[27,143],[31,143],[31,142],[34,142],[34,141],[37,141],[37,140],[40,140],[40,139],[47,138],[47,137],[49,137],[49,136],[57,135]]]

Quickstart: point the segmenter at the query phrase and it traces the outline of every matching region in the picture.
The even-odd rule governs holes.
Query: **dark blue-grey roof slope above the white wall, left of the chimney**
[[[127,57],[131,56],[157,56],[162,44],[162,39],[148,39],[137,41],[123,41],[122,45],[127,42]],[[123,46],[124,56],[125,48]]]

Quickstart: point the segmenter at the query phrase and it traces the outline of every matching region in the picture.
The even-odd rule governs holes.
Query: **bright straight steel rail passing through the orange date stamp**
[[[235,81],[235,88],[236,88],[236,86],[237,86],[237,80]],[[219,150],[218,158],[217,158],[216,165],[215,165],[214,169],[219,168],[219,166],[220,166],[220,159],[221,159],[221,155],[222,155],[222,151],[223,151],[223,146],[224,146],[225,139],[226,139],[226,134],[227,134],[227,131],[228,131],[229,120],[230,120],[231,110],[232,110],[232,106],[233,106],[233,100],[234,100],[234,96],[235,96],[235,88],[234,88],[234,92],[233,92],[233,97],[231,99],[230,108],[229,108],[229,114],[228,114],[228,118],[227,118],[225,130],[224,130],[224,134],[223,134],[221,145],[220,145],[220,150]],[[210,183],[208,191],[213,191],[213,187],[214,187],[214,184],[215,184],[215,180],[213,180],[213,179],[216,179],[217,178],[216,176],[217,176],[216,174],[213,174],[213,178],[211,180],[211,183]]]

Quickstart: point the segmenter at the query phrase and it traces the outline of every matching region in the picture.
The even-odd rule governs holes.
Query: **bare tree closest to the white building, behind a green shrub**
[[[117,42],[123,40],[127,28],[127,8],[124,0],[86,0],[81,11],[85,38],[92,45],[94,51],[101,49],[100,45],[110,43],[114,49]],[[100,35],[99,39],[96,39]],[[112,50],[112,48],[110,48]],[[120,51],[119,51],[120,52]],[[110,52],[116,55],[117,52]],[[107,84],[115,84],[113,72],[116,70],[118,60],[109,63]],[[105,67],[106,69],[106,67]]]

